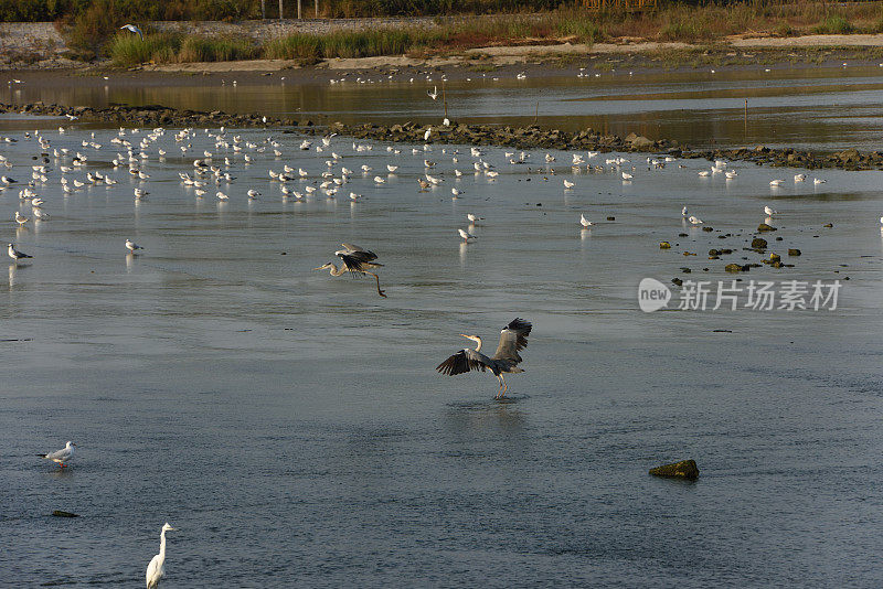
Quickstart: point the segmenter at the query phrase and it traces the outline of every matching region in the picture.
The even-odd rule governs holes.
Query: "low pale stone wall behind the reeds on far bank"
[[[287,36],[292,33],[322,34],[341,30],[390,29],[401,26],[436,26],[437,20],[421,18],[377,19],[302,19],[242,21],[156,21],[147,26],[166,32],[181,32],[201,36],[242,36],[257,42]],[[64,38],[52,22],[0,22],[0,66],[10,64],[70,65],[62,56],[67,51]],[[49,63],[42,63],[49,62]]]

